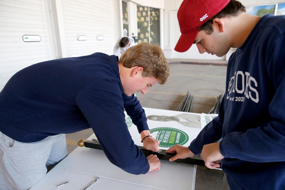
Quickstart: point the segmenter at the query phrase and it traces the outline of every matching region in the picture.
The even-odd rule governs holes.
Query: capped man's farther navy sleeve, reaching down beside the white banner
[[[196,156],[201,153],[204,145],[214,143],[222,137],[222,128],[224,123],[224,99],[225,95],[221,101],[218,116],[202,129],[197,138],[194,139],[188,147]]]

